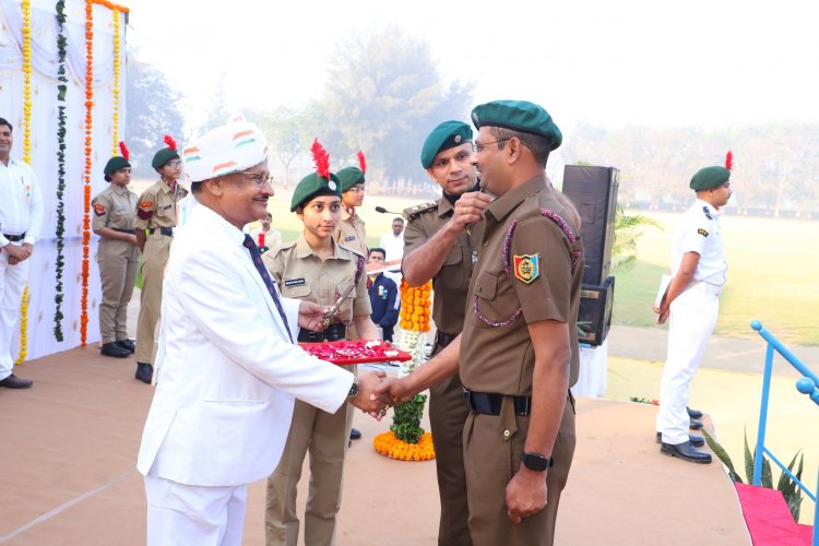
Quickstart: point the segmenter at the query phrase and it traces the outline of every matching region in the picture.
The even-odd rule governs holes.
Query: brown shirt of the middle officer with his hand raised
[[[453,214],[452,204],[443,198],[406,209],[404,256],[427,242]],[[432,320],[438,330],[450,335],[459,334],[463,328],[472,266],[478,256],[477,245],[473,249],[470,239],[467,232],[458,236],[440,271],[432,277]]]

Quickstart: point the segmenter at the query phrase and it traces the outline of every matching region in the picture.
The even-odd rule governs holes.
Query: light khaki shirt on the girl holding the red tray
[[[301,235],[295,241],[285,242],[268,252],[262,260],[282,296],[304,299],[314,304],[332,306],[349,288],[339,312],[342,321],[349,324],[353,317],[370,316],[370,297],[367,293],[365,260],[353,249],[333,244],[333,256],[322,260],[316,256]]]

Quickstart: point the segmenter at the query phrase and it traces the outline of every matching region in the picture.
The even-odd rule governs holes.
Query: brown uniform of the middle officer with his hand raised
[[[453,214],[454,207],[447,199],[406,209],[404,256],[427,242]],[[473,235],[476,234],[473,232]],[[434,354],[440,353],[463,329],[466,293],[477,259],[477,250],[473,250],[470,239],[471,234],[466,232],[458,237],[440,271],[432,277],[432,319],[438,329]],[[460,376],[455,373],[443,380],[429,389],[429,424],[441,499],[438,544],[468,545],[472,542],[466,524],[470,512],[461,438],[468,411]]]

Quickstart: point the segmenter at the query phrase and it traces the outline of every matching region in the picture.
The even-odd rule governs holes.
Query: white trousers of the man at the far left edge
[[[12,242],[21,246],[23,242]],[[11,356],[11,340],[19,327],[20,302],[28,281],[28,264],[24,260],[9,265],[9,252],[0,252],[0,380],[11,376],[14,359]]]

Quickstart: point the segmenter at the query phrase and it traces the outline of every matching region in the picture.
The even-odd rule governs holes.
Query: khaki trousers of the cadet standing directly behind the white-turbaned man
[[[173,241],[173,237],[162,235],[158,230],[149,235],[145,241],[145,250],[142,253],[142,294],[140,318],[136,321],[136,354],[134,355],[138,363],[154,363],[156,325],[159,322],[162,309],[162,282]]]

